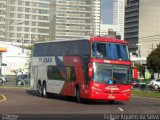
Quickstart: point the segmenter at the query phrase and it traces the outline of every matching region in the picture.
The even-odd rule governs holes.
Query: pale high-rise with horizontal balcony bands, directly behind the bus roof
[[[100,0],[51,0],[50,37],[87,38],[99,34]]]

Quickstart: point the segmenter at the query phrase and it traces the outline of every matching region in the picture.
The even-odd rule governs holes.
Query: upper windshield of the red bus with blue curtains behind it
[[[92,43],[92,57],[111,60],[129,60],[128,47],[118,43]]]

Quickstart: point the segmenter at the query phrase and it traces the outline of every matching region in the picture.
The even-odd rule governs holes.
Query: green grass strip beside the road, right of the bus
[[[144,91],[144,90],[132,90],[132,96],[141,96],[141,97],[150,97],[150,98],[159,98],[160,91]]]

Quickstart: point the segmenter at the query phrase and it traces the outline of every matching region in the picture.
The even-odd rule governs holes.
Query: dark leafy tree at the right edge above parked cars
[[[147,68],[152,72],[160,72],[160,44],[147,57]]]

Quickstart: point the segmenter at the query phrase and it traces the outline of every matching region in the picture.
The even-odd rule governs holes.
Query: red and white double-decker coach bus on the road
[[[31,87],[48,93],[106,100],[130,98],[131,61],[127,42],[115,38],[49,41],[34,44]]]

